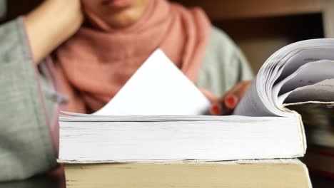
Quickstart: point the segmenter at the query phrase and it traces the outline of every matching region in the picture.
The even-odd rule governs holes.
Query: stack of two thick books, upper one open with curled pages
[[[302,117],[334,101],[334,40],[285,46],[263,64],[233,115],[157,50],[98,112],[60,115],[67,187],[312,187]]]

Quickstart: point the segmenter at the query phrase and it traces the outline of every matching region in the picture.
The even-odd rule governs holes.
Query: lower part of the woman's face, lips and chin
[[[83,9],[114,28],[123,28],[136,22],[151,0],[81,0]]]

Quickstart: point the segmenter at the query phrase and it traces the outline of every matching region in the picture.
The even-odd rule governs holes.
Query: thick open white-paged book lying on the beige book
[[[286,107],[289,103],[332,103],[333,60],[334,39],[285,46],[263,64],[234,115],[217,117],[200,115],[208,110],[208,100],[161,51],[156,51],[95,115],[61,115],[59,160],[303,156],[306,145],[301,117]]]

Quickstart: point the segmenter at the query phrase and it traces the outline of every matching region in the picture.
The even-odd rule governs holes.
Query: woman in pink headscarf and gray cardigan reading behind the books
[[[56,167],[59,108],[98,110],[156,48],[203,90],[213,115],[231,113],[249,85],[238,82],[251,79],[203,11],[165,0],[47,0],[0,36],[0,181]]]

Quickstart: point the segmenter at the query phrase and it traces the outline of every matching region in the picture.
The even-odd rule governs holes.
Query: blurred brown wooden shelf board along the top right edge
[[[314,0],[179,0],[186,6],[201,6],[213,20],[318,13],[323,1]]]

